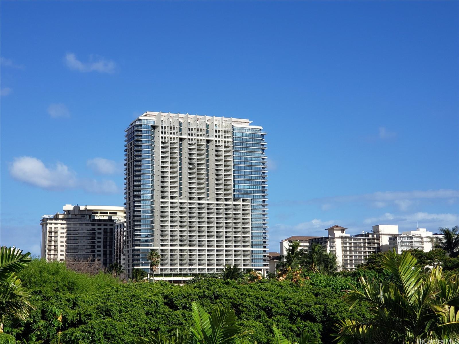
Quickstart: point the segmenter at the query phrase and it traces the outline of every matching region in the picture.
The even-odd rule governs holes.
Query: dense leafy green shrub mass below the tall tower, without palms
[[[364,306],[349,311],[341,299],[352,278],[319,274],[310,274],[303,286],[266,279],[240,284],[217,278],[174,286],[120,283],[108,275],[90,277],[69,271],[62,263],[35,260],[21,277],[37,309],[27,322],[9,324],[9,330],[27,343],[57,343],[58,332],[65,344],[129,343],[150,331],[184,333],[190,326],[192,301],[206,311],[230,307],[238,324],[253,329],[252,339],[260,344],[272,341],[274,324],[287,338],[297,340],[308,329],[322,343],[329,343],[338,320],[367,316]]]

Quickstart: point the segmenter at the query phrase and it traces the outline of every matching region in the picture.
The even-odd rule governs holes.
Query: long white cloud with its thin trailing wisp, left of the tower
[[[78,179],[75,172],[62,162],[45,166],[32,156],[14,158],[10,175],[17,181],[51,191],[83,189],[96,194],[116,194],[119,189],[112,180]]]

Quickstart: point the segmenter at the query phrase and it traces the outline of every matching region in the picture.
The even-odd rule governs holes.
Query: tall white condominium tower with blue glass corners
[[[126,129],[125,268],[157,275],[265,272],[266,142],[247,119],[145,112]]]

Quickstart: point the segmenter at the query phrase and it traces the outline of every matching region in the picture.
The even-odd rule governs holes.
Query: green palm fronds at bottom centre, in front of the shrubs
[[[137,338],[138,344],[242,344],[253,331],[246,331],[236,325],[233,310],[217,308],[209,315],[196,301],[191,303],[192,326],[183,336],[168,337],[152,332],[146,338]],[[306,344],[306,343],[305,343]]]

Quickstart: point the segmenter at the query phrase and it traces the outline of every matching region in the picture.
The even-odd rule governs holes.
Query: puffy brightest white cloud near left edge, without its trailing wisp
[[[57,162],[56,166],[46,167],[41,160],[32,156],[14,158],[10,174],[18,181],[42,189],[67,189],[76,183],[75,173],[66,165]]]

